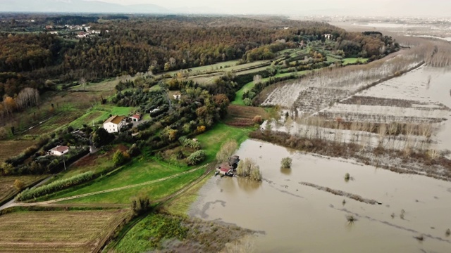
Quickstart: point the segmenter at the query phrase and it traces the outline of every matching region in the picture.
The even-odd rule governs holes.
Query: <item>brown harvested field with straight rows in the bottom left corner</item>
[[[124,210],[13,212],[0,216],[1,252],[94,252]],[[6,233],[7,231],[7,233]]]

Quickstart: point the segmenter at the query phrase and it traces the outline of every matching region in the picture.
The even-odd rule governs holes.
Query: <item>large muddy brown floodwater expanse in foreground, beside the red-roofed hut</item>
[[[451,252],[451,237],[445,235],[451,228],[451,182],[254,140],[242,143],[236,154],[255,160],[264,181],[213,176],[199,191],[190,215],[259,231],[256,252]],[[292,157],[292,169],[280,169],[283,157]],[[347,182],[346,173],[352,177]],[[299,182],[343,190],[382,205]],[[348,222],[349,214],[357,221]],[[424,240],[414,238],[421,234]]]

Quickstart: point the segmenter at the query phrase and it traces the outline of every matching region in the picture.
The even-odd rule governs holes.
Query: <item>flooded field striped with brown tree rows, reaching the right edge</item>
[[[314,113],[271,124],[278,131],[305,138],[403,150],[407,156],[419,150],[436,158],[451,148],[443,130],[449,127],[451,116],[448,78],[449,74],[438,68],[419,67],[341,100],[342,90],[310,87],[311,96],[337,96],[337,102],[323,109],[304,104],[300,108]],[[292,115],[290,110],[283,110],[282,115],[285,113]]]

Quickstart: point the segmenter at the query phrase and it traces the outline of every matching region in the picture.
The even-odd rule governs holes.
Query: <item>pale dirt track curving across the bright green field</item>
[[[203,165],[201,167],[198,167],[198,168],[195,168],[195,169],[190,169],[189,171],[180,172],[180,173],[174,174],[172,176],[166,176],[166,177],[164,177],[162,179],[156,179],[156,180],[147,181],[147,182],[144,182],[144,183],[137,183],[137,184],[130,185],[130,186],[123,186],[123,187],[112,188],[112,189],[108,189],[108,190],[99,190],[99,191],[94,192],[94,193],[85,193],[85,194],[80,194],[80,195],[75,195],[75,196],[70,196],[70,197],[61,197],[61,198],[58,198],[56,200],[47,200],[47,201],[42,201],[42,202],[34,202],[34,203],[14,202],[11,205],[9,205],[8,207],[18,207],[18,206],[20,206],[20,207],[31,207],[31,206],[50,205],[50,204],[55,203],[55,202],[61,202],[61,201],[65,201],[65,200],[73,200],[73,199],[77,199],[77,198],[80,198],[80,197],[87,197],[87,196],[92,196],[92,195],[98,195],[98,194],[101,194],[101,193],[111,193],[111,192],[118,191],[118,190],[125,190],[125,189],[140,187],[140,186],[147,186],[147,185],[152,184],[152,183],[166,181],[168,179],[174,179],[174,178],[176,178],[178,176],[183,176],[185,174],[192,173],[192,172],[197,171],[199,169],[205,168],[208,165],[209,164],[205,164],[205,165]],[[178,193],[180,193],[180,191]],[[177,193],[175,193],[175,194],[177,194]],[[171,195],[171,196],[173,196],[173,195]]]

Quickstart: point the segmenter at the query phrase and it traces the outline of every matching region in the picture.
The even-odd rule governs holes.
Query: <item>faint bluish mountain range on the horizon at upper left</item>
[[[155,4],[121,5],[83,0],[1,0],[0,12],[174,13]]]

